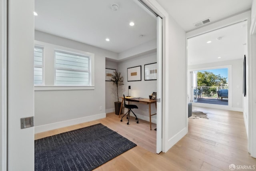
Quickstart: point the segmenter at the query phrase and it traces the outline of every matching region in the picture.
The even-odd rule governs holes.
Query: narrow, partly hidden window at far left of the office
[[[43,48],[34,47],[34,85],[43,84],[43,53]]]

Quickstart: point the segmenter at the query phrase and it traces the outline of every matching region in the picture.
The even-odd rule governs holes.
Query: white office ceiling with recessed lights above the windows
[[[118,10],[113,11],[112,4]],[[35,29],[120,53],[156,39],[156,16],[138,4],[135,0],[35,0]]]

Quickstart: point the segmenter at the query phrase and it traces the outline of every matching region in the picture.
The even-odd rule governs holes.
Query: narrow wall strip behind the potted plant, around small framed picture
[[[106,60],[106,68],[117,70],[117,63]],[[106,97],[106,113],[114,112],[115,105],[114,102],[118,101],[116,97],[116,86],[113,85],[113,82],[105,82],[105,97]]]

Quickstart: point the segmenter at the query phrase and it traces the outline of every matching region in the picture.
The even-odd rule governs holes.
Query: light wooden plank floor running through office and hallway
[[[193,107],[193,110],[208,113],[209,119],[189,119],[188,134],[167,153],[154,153],[156,131],[149,130],[148,122],[140,120],[137,124],[132,119],[130,125],[126,125],[126,121],[120,122],[114,113],[108,113],[104,119],[38,133],[35,139],[102,123],[138,146],[96,168],[96,171],[229,171],[230,164],[256,168],[256,159],[247,152],[241,112],[203,107]]]

